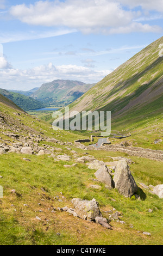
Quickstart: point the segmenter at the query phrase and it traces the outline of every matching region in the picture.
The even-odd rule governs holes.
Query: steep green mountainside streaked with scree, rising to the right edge
[[[161,130],[163,111],[163,37],[122,64],[70,105],[71,110],[111,111],[112,130]],[[152,129],[153,126],[153,129]],[[145,131],[145,130],[144,130]]]

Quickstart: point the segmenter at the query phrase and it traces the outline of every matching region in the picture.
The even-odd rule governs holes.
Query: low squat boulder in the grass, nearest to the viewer
[[[71,202],[76,209],[76,213],[84,220],[94,221],[96,217],[102,217],[96,201],[73,198]]]

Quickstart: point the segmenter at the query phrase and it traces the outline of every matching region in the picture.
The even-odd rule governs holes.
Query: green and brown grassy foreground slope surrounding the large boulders
[[[21,143],[22,138],[34,145],[35,138],[41,136],[42,140],[37,142],[39,147],[55,146],[62,150],[58,154],[70,155],[72,159],[70,162],[54,161],[48,154],[0,155],[0,184],[4,192],[0,199],[0,245],[162,245],[162,199],[140,186],[140,200],[125,198],[116,190],[108,190],[104,184],[89,180],[95,178],[95,170],[88,169],[86,164],[64,167],[76,160],[70,148],[76,150],[78,156],[91,154],[102,161],[112,161],[111,156],[126,154],[77,148],[74,140],[84,136],[53,131],[51,125],[18,110],[17,117],[15,109],[8,105],[0,102],[3,117],[0,119],[0,144],[5,141],[7,147]],[[7,134],[11,132],[20,137],[9,137]],[[59,143],[47,142],[47,137],[56,138]],[[137,184],[162,184],[161,161],[130,158],[135,162],[131,164],[131,173]],[[90,185],[101,185],[101,190]],[[73,208],[72,198],[96,198],[104,217],[108,218],[105,211],[115,208],[123,214],[121,220],[125,223],[111,221],[113,230],[108,230],[58,210],[66,205]],[[143,231],[151,236],[143,235]]]

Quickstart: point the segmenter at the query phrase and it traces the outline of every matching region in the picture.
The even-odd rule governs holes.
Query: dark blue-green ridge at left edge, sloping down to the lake
[[[38,109],[46,107],[40,101],[33,99],[32,97],[28,97],[22,95],[20,93],[9,92],[8,90],[0,89],[0,93],[7,97],[9,100],[13,101],[18,107],[22,108],[24,111]]]

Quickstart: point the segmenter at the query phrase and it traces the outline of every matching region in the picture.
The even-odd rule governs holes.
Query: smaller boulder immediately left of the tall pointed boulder
[[[102,166],[101,168],[99,168],[95,173],[95,176],[99,181],[107,185],[110,190],[111,188],[113,188],[112,179],[106,166]]]

